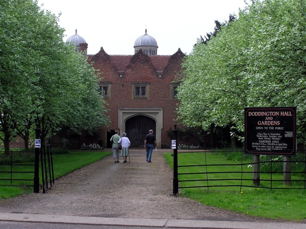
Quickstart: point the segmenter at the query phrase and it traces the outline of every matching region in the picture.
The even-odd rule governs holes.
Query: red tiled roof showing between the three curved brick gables
[[[126,67],[129,65],[132,55],[110,55],[112,62],[117,67],[119,72],[125,71]],[[155,66],[156,71],[163,71],[167,66],[169,58],[171,56],[149,56],[151,58],[152,64]]]

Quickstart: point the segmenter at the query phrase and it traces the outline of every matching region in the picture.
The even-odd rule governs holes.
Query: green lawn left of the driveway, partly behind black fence
[[[69,151],[66,154],[53,154],[54,179],[61,177],[73,170],[94,163],[110,155],[111,152],[99,151]],[[40,162],[40,161],[39,161]],[[28,173],[13,173],[13,179],[32,179],[34,177],[33,162],[19,162],[19,164],[32,164],[32,166],[13,166],[13,171],[28,171]],[[10,171],[10,166],[0,165],[0,171]],[[0,178],[10,178],[10,173],[0,173]],[[41,167],[39,167],[39,183],[42,184]],[[13,185],[18,186],[0,186],[0,199],[11,198],[22,193],[33,192],[33,181],[13,181]],[[10,185],[10,181],[0,180],[0,185]]]

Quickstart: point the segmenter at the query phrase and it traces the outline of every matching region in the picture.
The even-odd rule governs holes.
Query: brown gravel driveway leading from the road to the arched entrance
[[[112,156],[108,156],[56,179],[45,194],[40,190],[40,193],[0,200],[0,212],[276,222],[172,196],[173,173],[163,152],[172,151],[153,151],[152,163],[146,162],[145,150],[139,149],[130,149],[130,162],[128,158],[127,163],[123,163],[122,157],[120,163],[114,163]]]

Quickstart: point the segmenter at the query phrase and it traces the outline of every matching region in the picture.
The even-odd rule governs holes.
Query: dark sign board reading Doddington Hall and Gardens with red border
[[[294,156],[296,107],[245,107],[244,153]]]

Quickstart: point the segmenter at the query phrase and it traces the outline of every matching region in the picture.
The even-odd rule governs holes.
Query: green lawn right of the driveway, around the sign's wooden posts
[[[171,153],[164,154],[166,161],[173,169],[173,157]],[[241,164],[241,161],[226,160],[223,155],[214,153],[179,153],[178,166],[184,165],[205,165],[207,164]],[[251,161],[252,162],[252,161]],[[243,163],[247,163],[244,161]],[[249,162],[250,163],[250,162]],[[218,171],[252,171],[252,167],[247,165],[240,166],[208,166],[207,172]],[[206,172],[205,166],[179,167],[180,173],[199,173]],[[271,219],[285,219],[300,221],[306,219],[306,190],[294,189],[265,189],[256,187],[242,187],[239,180],[219,180],[209,181],[209,188],[184,188],[190,186],[207,186],[207,181],[191,181],[191,179],[226,179],[241,178],[241,173],[219,173],[219,174],[197,174],[197,175],[178,175],[179,195],[192,198],[203,205],[210,205],[218,208],[241,212],[245,215],[267,217]],[[244,174],[243,178],[251,178],[252,173]],[[271,179],[270,174],[260,174],[261,179]],[[282,173],[273,174],[272,181],[283,179]],[[301,175],[292,175],[292,179],[304,180]],[[243,181],[243,185],[251,185],[252,181]],[[217,185],[237,185],[237,187],[219,187]],[[261,186],[270,187],[270,181],[261,181]],[[284,187],[283,182],[273,182],[273,187]],[[303,182],[293,182],[292,187],[304,187]]]

